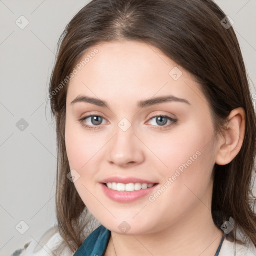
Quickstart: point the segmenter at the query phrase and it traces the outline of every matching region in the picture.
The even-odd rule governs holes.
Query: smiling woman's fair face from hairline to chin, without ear
[[[83,60],[68,85],[65,143],[89,211],[106,228],[129,234],[211,214],[216,138],[193,77],[158,48],[135,41],[95,45]],[[156,185],[117,191],[103,184],[107,178],[121,183],[118,190]]]

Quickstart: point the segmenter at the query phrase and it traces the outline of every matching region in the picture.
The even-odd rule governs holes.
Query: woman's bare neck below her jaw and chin
[[[214,256],[222,235],[213,222],[210,209],[199,203],[196,212],[190,212],[157,233],[124,235],[111,232],[105,256]]]

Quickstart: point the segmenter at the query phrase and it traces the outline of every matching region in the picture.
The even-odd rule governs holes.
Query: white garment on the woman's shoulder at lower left
[[[59,234],[57,227],[54,226],[48,229],[39,241],[31,239],[23,248],[15,250],[11,256],[54,256],[52,251],[58,248],[62,242],[63,238]],[[68,248],[63,248],[61,256],[71,255],[73,253]]]

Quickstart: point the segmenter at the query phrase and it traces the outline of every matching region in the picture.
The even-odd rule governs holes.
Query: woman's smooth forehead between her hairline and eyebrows
[[[110,101],[123,98],[126,103],[164,94],[203,97],[192,75],[148,43],[114,41],[94,45],[75,68],[77,74],[68,85],[69,102],[78,94]]]

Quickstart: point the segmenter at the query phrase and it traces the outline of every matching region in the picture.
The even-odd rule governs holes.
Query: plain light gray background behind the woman
[[[46,94],[57,40],[87,2],[0,0],[1,256],[31,239],[39,241],[56,223],[56,136]],[[256,0],[215,2],[234,21],[256,98]],[[29,22],[23,29],[22,15]],[[18,230],[25,231],[20,221],[29,227],[24,234],[15,228],[21,225]]]

